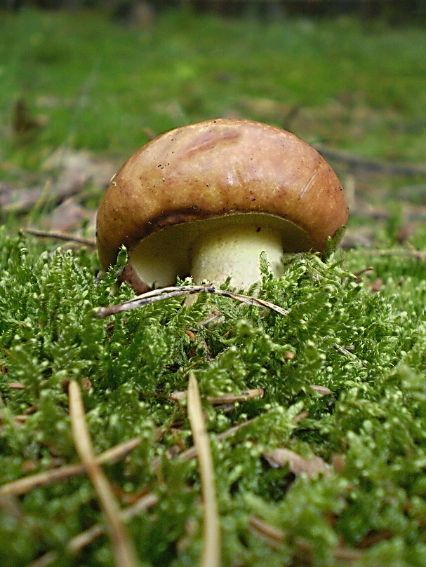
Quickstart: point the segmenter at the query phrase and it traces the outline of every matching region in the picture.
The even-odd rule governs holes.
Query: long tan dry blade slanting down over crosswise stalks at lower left
[[[84,404],[81,391],[76,381],[71,381],[68,388],[69,416],[71,418],[72,437],[81,460],[86,466],[95,490],[98,493],[102,510],[105,514],[109,538],[112,542],[116,567],[135,567],[140,565],[135,547],[128,534],[126,524],[121,519],[120,507],[114,497],[109,481],[96,460],[91,437],[86,425]]]

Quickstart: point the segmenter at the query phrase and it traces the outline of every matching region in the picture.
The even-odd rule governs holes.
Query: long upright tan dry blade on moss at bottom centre
[[[220,524],[218,501],[215,492],[213,458],[204,423],[197,378],[195,378],[194,374],[189,375],[188,414],[194,445],[197,448],[201,490],[204,499],[204,541],[200,567],[219,567]]]

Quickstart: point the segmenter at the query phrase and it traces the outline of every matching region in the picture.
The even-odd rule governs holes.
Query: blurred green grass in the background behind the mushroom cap
[[[420,27],[353,18],[266,24],[168,11],[136,29],[91,11],[2,13],[1,159],[37,168],[62,144],[126,158],[147,132],[241,116],[421,161],[425,53]],[[44,128],[13,135],[17,100]]]

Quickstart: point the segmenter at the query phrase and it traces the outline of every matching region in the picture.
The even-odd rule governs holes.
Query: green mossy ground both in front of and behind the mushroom
[[[34,11],[2,14],[0,25],[7,182],[37,173],[61,144],[126,158],[147,140],[144,128],[161,132],[227,113],[283,125],[299,104],[293,130],[310,142],[382,159],[423,156],[426,46],[416,27],[168,13],[140,31],[99,14]],[[18,97],[34,116],[46,114],[44,128],[11,132]],[[424,566],[426,264],[412,253],[426,249],[421,183],[369,179],[363,195],[395,197],[406,187],[418,217],[404,254],[392,253],[406,222],[397,201],[384,222],[361,212],[350,221],[352,231],[368,225],[386,254],[373,246],[340,250],[326,263],[295,256],[279,279],[265,269],[260,297],[288,309],[286,316],[200,296],[191,308],[169,299],[97,319],[96,306],[132,296],[115,289],[116,271],[98,274],[95,253],[84,248],[18,233],[29,219],[41,223],[47,209],[29,219],[5,216],[0,484],[79,462],[67,397],[74,379],[95,451],[140,438],[104,469],[122,507],[145,493],[159,499],[129,524],[141,560],[198,564],[199,467],[178,454],[192,446],[192,434],[185,399],[171,397],[186,390],[193,371],[213,451],[224,566]],[[385,193],[376,192],[383,184]],[[94,207],[101,192],[92,188],[81,203]],[[212,306],[222,316],[206,324]],[[252,388],[264,395],[209,401]],[[328,474],[272,467],[265,454],[277,448],[321,458]],[[114,564],[105,535],[67,551],[71,538],[102,521],[85,475],[1,494],[0,508],[4,567],[48,552],[57,552],[51,564],[58,567]]]

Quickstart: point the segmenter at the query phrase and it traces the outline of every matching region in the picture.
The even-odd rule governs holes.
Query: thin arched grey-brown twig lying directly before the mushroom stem
[[[156,303],[163,299],[171,299],[172,297],[180,297],[185,295],[193,295],[200,293],[210,293],[215,295],[221,295],[222,297],[230,297],[236,301],[241,301],[241,303],[248,303],[255,307],[267,307],[273,311],[276,311],[280,315],[288,315],[288,310],[275,305],[274,303],[269,303],[269,301],[264,301],[263,299],[258,299],[257,297],[251,297],[247,295],[236,294],[234,292],[228,292],[225,289],[218,289],[214,285],[182,285],[182,286],[171,286],[163,287],[161,289],[153,289],[151,292],[147,292],[142,295],[133,297],[133,299],[128,299],[124,303],[119,303],[119,305],[111,305],[109,307],[98,307],[96,309],[96,317],[102,319],[102,317],[107,317],[108,315],[114,315],[115,313],[122,313],[123,311],[128,311],[141,307],[142,305],[150,305],[151,303]]]

